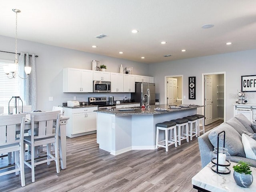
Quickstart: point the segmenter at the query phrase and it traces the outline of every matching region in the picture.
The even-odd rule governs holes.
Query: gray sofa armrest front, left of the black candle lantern
[[[214,146],[211,144],[208,138],[208,135],[211,131],[212,130],[198,137],[198,146],[200,150],[202,168],[204,168],[212,160],[212,151],[214,150]]]

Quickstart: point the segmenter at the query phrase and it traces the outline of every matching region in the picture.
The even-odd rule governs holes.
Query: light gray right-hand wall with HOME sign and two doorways
[[[149,75],[154,76],[160,104],[164,103],[164,76],[183,74],[184,104],[202,104],[202,74],[226,72],[226,120],[233,116],[241,76],[256,74],[256,50],[233,52],[198,58],[149,64]],[[188,77],[196,76],[196,100],[188,100]],[[248,93],[248,103],[256,104],[256,93]]]

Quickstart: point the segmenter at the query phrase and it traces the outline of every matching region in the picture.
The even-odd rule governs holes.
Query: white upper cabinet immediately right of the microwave
[[[124,74],[110,73],[111,92],[124,92]]]

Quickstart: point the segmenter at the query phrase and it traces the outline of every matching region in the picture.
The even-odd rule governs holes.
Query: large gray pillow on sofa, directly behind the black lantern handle
[[[234,129],[232,126],[222,123],[220,124],[217,128],[214,128],[208,135],[208,138],[212,145],[214,147],[217,147],[217,138],[218,138],[218,133],[221,131],[225,131],[225,148],[228,149],[228,153],[230,155],[234,156],[241,156],[241,157],[246,157],[244,153],[244,146],[242,144],[242,137],[241,135]],[[220,134],[220,142],[219,146],[223,147],[223,135]]]

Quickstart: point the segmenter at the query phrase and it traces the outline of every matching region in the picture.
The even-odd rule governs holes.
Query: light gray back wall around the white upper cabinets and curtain
[[[15,52],[15,39],[0,36],[0,50]],[[91,70],[91,61],[99,60],[101,64],[107,66],[106,71],[108,72],[119,72],[119,66],[122,64],[123,68],[128,66],[133,67],[133,74],[148,75],[148,64],[25,40],[18,40],[18,52],[28,52],[38,55],[38,58],[36,58],[38,110],[51,110],[52,106],[62,105],[62,102],[73,100],[73,96],[76,96],[78,101],[88,101],[88,97],[91,96],[114,96],[115,100],[122,100],[124,96],[130,98],[130,94],[128,93],[63,93],[63,68],[71,67]],[[14,60],[14,58],[15,54],[0,52],[0,59]],[[0,69],[0,73],[3,73],[3,69]],[[54,101],[48,101],[49,96],[53,96]]]

